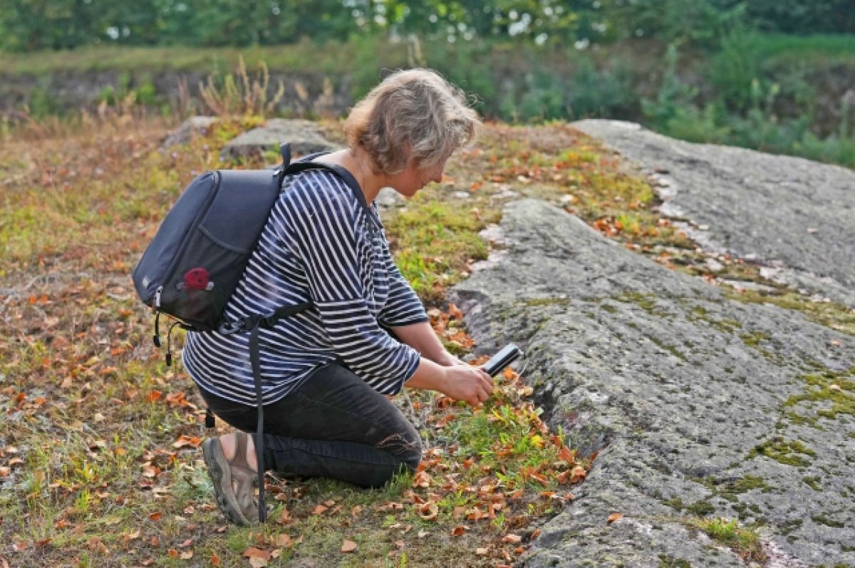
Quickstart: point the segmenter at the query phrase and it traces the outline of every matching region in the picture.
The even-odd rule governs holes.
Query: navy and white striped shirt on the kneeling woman
[[[392,261],[376,205],[366,209],[326,170],[288,176],[285,186],[225,311],[233,319],[314,304],[260,329],[264,404],[336,358],[379,393],[398,393],[416,372],[419,353],[382,326],[428,317]],[[188,333],[182,359],[209,393],[257,404],[248,332]]]

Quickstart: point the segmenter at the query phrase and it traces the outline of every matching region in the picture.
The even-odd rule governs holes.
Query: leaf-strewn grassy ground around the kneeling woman
[[[221,121],[165,153],[157,150],[164,121],[138,118],[109,110],[21,129],[0,145],[9,180],[0,198],[0,535],[20,549],[16,564],[245,565],[248,547],[279,554],[268,565],[516,559],[528,525],[560,510],[591,464],[546,429],[528,403],[531,389],[512,373],[486,411],[412,397],[428,448],[418,475],[374,491],[271,478],[272,523],[224,524],[198,450],[213,433],[189,377],[151,346],[150,311],[129,272],[181,188],[226,165],[222,145],[256,119]],[[450,164],[463,187],[489,168],[474,152]],[[469,261],[486,256],[477,231],[500,215],[487,188],[463,206],[444,201],[446,191],[428,187],[385,219],[397,253],[424,255],[423,297],[437,305]],[[431,317],[449,346],[469,352],[459,311]],[[175,350],[183,337],[174,334]],[[524,540],[502,542],[509,532]],[[340,552],[345,538],[357,553]]]

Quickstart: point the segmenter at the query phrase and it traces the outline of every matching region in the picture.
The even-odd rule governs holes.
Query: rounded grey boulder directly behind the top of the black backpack
[[[312,121],[273,118],[262,127],[239,134],[222,149],[220,157],[227,159],[260,154],[267,150],[278,151],[283,142],[290,142],[292,152],[303,156],[339,149],[338,145],[323,137],[321,130]]]

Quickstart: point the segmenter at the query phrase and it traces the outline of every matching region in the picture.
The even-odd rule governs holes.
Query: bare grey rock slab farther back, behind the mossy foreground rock
[[[662,172],[663,211],[709,226],[690,234],[705,246],[767,263],[777,281],[855,306],[855,171],[690,144],[631,122],[571,126]]]

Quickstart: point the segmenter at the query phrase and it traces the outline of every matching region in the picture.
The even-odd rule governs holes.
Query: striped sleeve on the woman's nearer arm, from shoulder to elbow
[[[419,365],[419,354],[392,339],[365,299],[370,254],[357,239],[359,205],[333,175],[302,175],[286,193],[285,222],[304,263],[309,292],[333,350],[374,390],[398,393]]]

